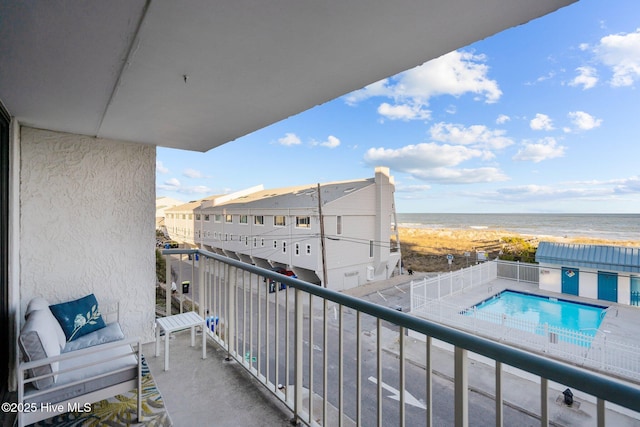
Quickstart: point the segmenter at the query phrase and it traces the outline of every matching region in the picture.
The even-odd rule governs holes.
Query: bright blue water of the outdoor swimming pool
[[[514,291],[503,291],[475,306],[480,313],[505,314],[515,320],[547,324],[591,336],[600,327],[606,308]],[[467,314],[471,314],[471,310]]]

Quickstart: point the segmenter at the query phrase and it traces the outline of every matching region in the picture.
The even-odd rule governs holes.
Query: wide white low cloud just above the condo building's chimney
[[[443,184],[504,181],[496,168],[457,169],[460,163],[485,155],[482,150],[462,145],[422,143],[398,149],[371,148],[364,156],[370,165],[384,165],[413,177]]]

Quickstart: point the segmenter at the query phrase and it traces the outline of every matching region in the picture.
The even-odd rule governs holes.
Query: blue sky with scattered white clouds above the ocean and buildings
[[[158,148],[157,196],[388,166],[401,213],[638,213],[639,86],[640,2],[581,0],[207,153]]]

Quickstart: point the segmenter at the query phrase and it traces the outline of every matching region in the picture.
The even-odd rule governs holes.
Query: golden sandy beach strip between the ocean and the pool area
[[[405,268],[420,272],[448,271],[447,255],[453,255],[451,269],[475,263],[476,251],[485,251],[491,259],[509,249],[509,241],[522,241],[537,247],[540,241],[592,245],[640,247],[637,240],[603,240],[587,237],[529,236],[488,229],[431,229],[398,227]],[[469,254],[467,258],[465,253]]]

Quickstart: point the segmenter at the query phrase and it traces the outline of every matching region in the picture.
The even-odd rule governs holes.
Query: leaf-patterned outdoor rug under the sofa
[[[142,357],[142,423],[132,421],[136,419],[136,393],[136,390],[131,390],[126,394],[120,394],[107,400],[93,403],[91,412],[68,412],[40,421],[33,424],[33,426],[170,427],[173,425],[144,356]]]

